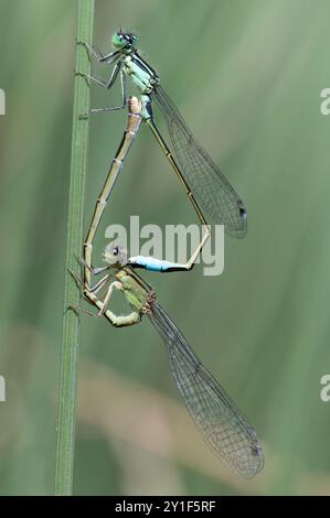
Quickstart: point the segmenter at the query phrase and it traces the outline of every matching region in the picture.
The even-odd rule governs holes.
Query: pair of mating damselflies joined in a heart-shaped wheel
[[[84,43],[88,53],[97,61],[114,64],[107,83],[91,75],[86,77],[110,89],[120,76],[123,106],[91,111],[105,112],[124,108],[127,105],[128,77],[138,86],[141,95],[140,99],[131,98],[128,102],[128,126],[96,203],[84,246],[84,281],[79,282],[83,284],[85,298],[98,309],[97,316],[105,316],[114,326],[134,325],[140,322],[142,315],[149,317],[164,342],[175,385],[205,442],[236,473],[251,477],[264,465],[263,450],[256,432],[202,365],[177,325],[157,302],[153,290],[136,271],[137,268],[168,272],[191,269],[209,233],[204,235],[187,265],[168,263],[140,256],[129,258],[119,244],[106,247],[104,252],[106,266],[92,267],[92,247],[96,229],[141,120],[151,129],[181,180],[200,222],[203,225],[224,224],[227,231],[235,237],[243,237],[246,233],[246,211],[241,198],[205,150],[196,143],[178,108],[160,86],[156,72],[140,57],[136,48],[136,36],[120,31],[113,36],[113,44],[116,51],[103,55],[95,47]],[[166,117],[173,152],[156,126],[152,114],[153,101]],[[91,285],[91,273],[104,273],[94,287]],[[116,315],[109,310],[108,304],[114,290],[121,291],[127,299],[131,307],[128,315]],[[105,291],[105,294],[100,296],[102,291]]]

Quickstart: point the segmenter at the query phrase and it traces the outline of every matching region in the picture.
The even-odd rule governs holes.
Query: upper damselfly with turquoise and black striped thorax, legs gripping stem
[[[99,63],[114,65],[108,82],[79,72],[81,75],[107,89],[114,86],[118,76],[121,80],[121,106],[92,109],[91,112],[99,114],[124,108],[127,102],[126,79],[129,77],[141,93],[142,118],[181,180],[200,222],[203,225],[206,225],[206,222],[223,224],[230,235],[243,237],[246,234],[246,211],[242,199],[207,152],[196,142],[179,109],[160,85],[158,74],[138,53],[137,36],[121,31],[116,32],[111,39],[116,51],[105,55],[88,43],[83,43]],[[156,126],[152,114],[153,101],[166,118],[173,154]],[[207,215],[207,219],[204,214]]]

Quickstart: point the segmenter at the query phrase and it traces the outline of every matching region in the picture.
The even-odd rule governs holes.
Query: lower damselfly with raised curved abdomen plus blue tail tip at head
[[[115,327],[137,324],[142,315],[147,315],[162,337],[174,382],[211,450],[232,470],[243,477],[256,475],[264,465],[264,454],[256,432],[248,424],[235,402],[226,395],[213,376],[203,366],[187,339],[167,312],[157,302],[155,292],[147,282],[137,274],[136,267],[156,271],[188,269],[192,259],[200,252],[203,240],[187,265],[169,263],[153,258],[128,258],[126,250],[117,245],[108,245],[104,251],[105,267],[93,268],[92,248],[96,229],[99,225],[106,202],[140,126],[141,105],[137,98],[129,100],[128,123],[121,143],[114,159],[104,188],[97,199],[94,216],[84,246],[85,267],[84,281],[75,276],[83,285],[85,299],[98,309]],[[205,236],[204,236],[205,238]],[[207,238],[207,237],[206,237]],[[91,273],[105,273],[94,287],[91,287]],[[100,299],[98,293],[105,290]],[[108,304],[114,290],[124,293],[131,312],[116,315]],[[82,310],[74,307],[74,310]]]

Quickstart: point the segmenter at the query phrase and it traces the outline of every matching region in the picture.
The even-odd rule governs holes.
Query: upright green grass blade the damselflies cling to
[[[92,43],[94,21],[94,0],[78,0],[77,41]],[[76,46],[76,71],[89,72],[91,64],[83,45]],[[72,130],[72,158],[70,177],[70,199],[66,237],[64,313],[60,359],[60,388],[57,414],[57,450],[55,494],[72,495],[74,445],[75,445],[75,404],[78,359],[78,316],[67,311],[70,304],[79,302],[79,289],[68,273],[78,274],[75,256],[82,253],[83,211],[85,174],[87,164],[88,120],[79,119],[79,114],[89,109],[89,88],[86,80],[76,75],[74,83],[74,109]]]

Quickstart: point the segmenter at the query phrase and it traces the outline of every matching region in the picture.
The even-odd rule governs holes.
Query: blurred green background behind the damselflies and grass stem
[[[245,482],[204,446],[148,320],[82,316],[75,494],[330,494],[328,0],[96,0],[94,41],[140,35],[194,133],[248,209],[221,277],[146,277],[265,445]],[[76,1],[0,0],[0,493],[52,494],[70,175]],[[109,71],[97,68],[98,75]],[[94,88],[93,106],[119,99]],[[91,125],[86,227],[126,114]],[[162,125],[160,125],[163,128]],[[147,163],[146,163],[147,160]],[[195,220],[147,128],[109,223]]]

